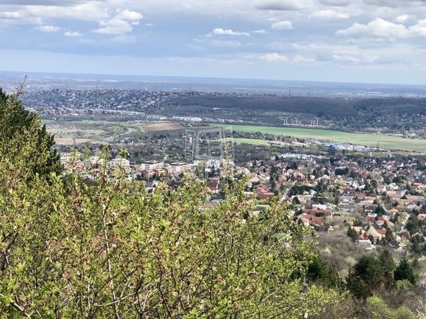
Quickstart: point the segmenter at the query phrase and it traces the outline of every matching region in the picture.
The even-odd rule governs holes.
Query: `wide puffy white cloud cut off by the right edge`
[[[407,28],[402,24],[376,18],[367,24],[354,23],[345,30],[337,31],[336,35],[386,38],[388,40],[426,37],[426,19]]]

